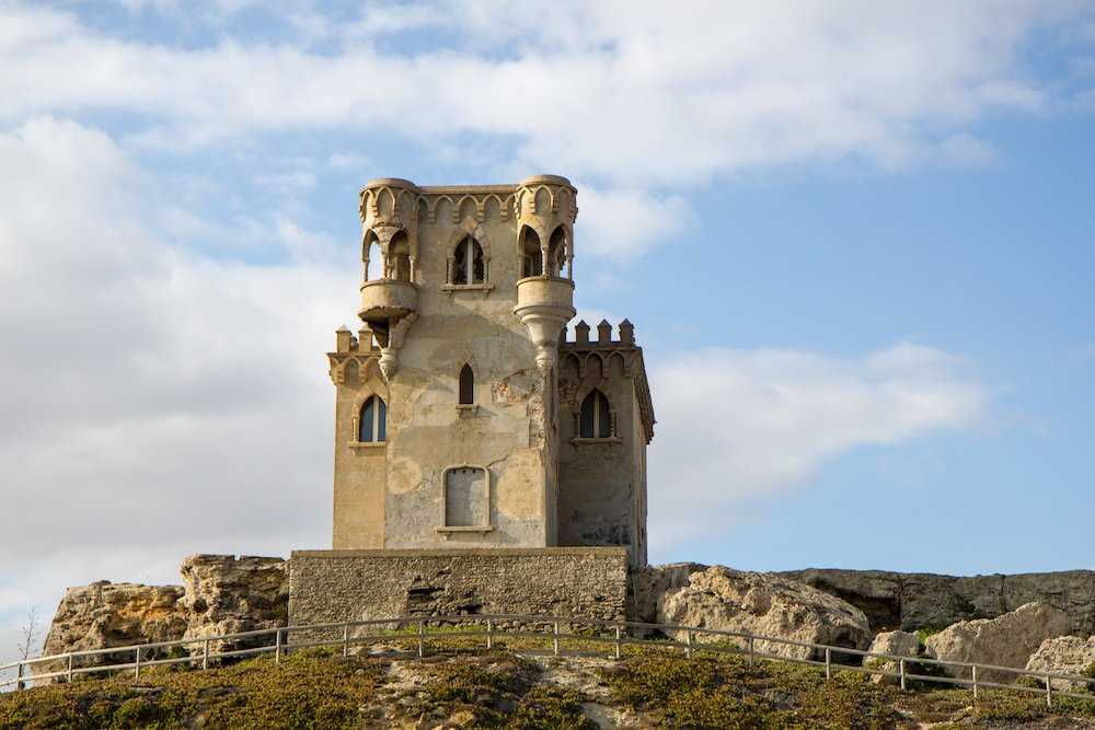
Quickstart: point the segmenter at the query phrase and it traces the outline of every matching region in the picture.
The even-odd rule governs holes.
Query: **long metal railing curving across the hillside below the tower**
[[[454,624],[457,628],[469,626],[463,630],[438,630],[446,624]],[[365,634],[370,627],[381,628],[395,625],[394,633]],[[562,626],[567,626],[569,630],[562,631]],[[405,630],[413,627],[413,631]],[[532,630],[531,626],[548,626],[549,630]],[[601,629],[608,635],[597,633],[573,633],[573,627],[584,627],[589,629]],[[474,628],[472,628],[474,627]],[[401,630],[402,629],[402,630]],[[431,630],[433,629],[433,630]],[[659,631],[667,637],[672,635],[683,635],[680,638],[644,638],[633,635],[635,631],[648,633]],[[339,636],[341,633],[341,636]],[[296,635],[297,640],[290,641],[290,637]],[[315,638],[316,635],[334,636],[335,638]],[[132,670],[134,679],[139,680],[141,670],[150,667],[162,667],[166,664],[189,664],[192,668],[208,669],[209,662],[218,659],[252,657],[264,653],[273,653],[274,661],[280,663],[281,658],[289,651],[315,648],[315,647],[341,647],[343,656],[348,656],[350,647],[358,647],[378,641],[413,640],[417,644],[417,656],[425,657],[427,642],[443,644],[445,639],[458,637],[481,637],[485,638],[486,648],[494,647],[495,638],[498,636],[550,639],[551,650],[554,656],[560,656],[562,649],[561,641],[591,641],[611,645],[613,656],[620,659],[623,647],[627,645],[642,645],[653,647],[679,648],[684,651],[684,656],[691,659],[696,652],[731,653],[747,657],[749,667],[752,667],[758,659],[793,662],[798,664],[810,664],[825,668],[826,679],[832,679],[837,672],[861,672],[872,675],[881,675],[898,680],[901,690],[908,690],[909,683],[913,681],[950,684],[961,687],[969,687],[977,699],[983,688],[1001,688],[1015,692],[1029,692],[1045,694],[1046,704],[1053,705],[1054,697],[1072,697],[1076,699],[1090,699],[1095,702],[1095,694],[1084,694],[1053,688],[1053,680],[1069,682],[1071,685],[1081,685],[1091,692],[1095,692],[1095,677],[1077,676],[1073,674],[1062,674],[1057,672],[1029,671],[1015,667],[998,667],[994,664],[982,664],[978,662],[945,661],[942,659],[931,659],[927,657],[908,657],[902,654],[886,654],[862,649],[850,649],[825,644],[814,644],[810,641],[796,641],[774,636],[761,636],[746,631],[731,631],[725,629],[703,628],[699,626],[682,626],[677,624],[649,624],[630,621],[603,621],[597,618],[576,618],[573,616],[534,616],[520,614],[476,614],[476,615],[436,615],[436,616],[400,616],[395,618],[373,618],[367,621],[346,621],[333,624],[307,624],[298,626],[283,626],[280,628],[265,628],[252,631],[240,631],[235,634],[221,634],[217,636],[203,636],[195,638],[175,639],[172,641],[157,641],[152,644],[139,644],[124,647],[108,647],[104,649],[90,649],[84,651],[70,651],[66,653],[39,656],[33,659],[24,659],[8,664],[0,665],[0,675],[12,670],[15,676],[9,680],[0,679],[0,688],[15,685],[16,690],[24,688],[33,682],[46,680],[64,679],[71,682],[77,675],[91,674],[96,672],[117,672]],[[714,637],[713,641],[698,642],[696,637]],[[227,651],[210,651],[211,642],[241,642],[254,640],[258,637],[272,637],[273,641],[257,647],[231,649]],[[718,644],[718,642],[722,644]],[[758,647],[758,645],[761,645]],[[770,648],[768,645],[789,646],[809,649],[810,657],[787,657],[762,649]],[[196,651],[185,657],[155,658],[157,652],[173,648],[199,647]],[[126,654],[132,653],[131,661],[124,661],[107,664],[78,665],[79,659],[89,657],[101,657],[104,654]],[[142,656],[147,657],[142,659]],[[878,659],[883,661],[879,667],[864,667],[858,664],[838,662],[834,656],[860,657],[860,661],[867,659]],[[820,659],[816,658],[820,657]],[[47,667],[50,671],[34,673],[28,675],[26,670],[39,664],[60,665],[60,669]],[[886,664],[897,665],[896,670],[884,669]],[[934,665],[943,669],[957,670],[955,674],[965,676],[944,676],[932,674],[919,674],[922,665]],[[1042,683],[1042,686],[1024,686],[1021,684],[1010,684],[1002,682],[989,682],[983,679],[984,672],[996,672],[1021,676],[1031,676]],[[979,674],[981,676],[979,676]]]

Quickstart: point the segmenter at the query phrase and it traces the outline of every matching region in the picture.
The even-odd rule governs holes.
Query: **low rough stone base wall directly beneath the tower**
[[[626,615],[620,547],[459,551],[298,551],[289,571],[292,624],[428,614]]]

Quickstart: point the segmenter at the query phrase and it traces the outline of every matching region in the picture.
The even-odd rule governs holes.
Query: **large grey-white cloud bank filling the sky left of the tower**
[[[192,552],[327,544],[323,352],[356,267],[289,220],[280,266],[166,245],[158,186],[73,123],[0,132],[0,167],[3,621],[66,584],[175,580]]]

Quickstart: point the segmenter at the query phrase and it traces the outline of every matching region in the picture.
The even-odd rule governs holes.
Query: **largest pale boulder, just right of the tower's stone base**
[[[867,617],[838,598],[805,583],[759,572],[715,566],[687,576],[687,583],[658,599],[658,622],[744,631],[864,649],[871,641]],[[684,631],[676,631],[684,640]],[[695,635],[696,642],[730,640],[712,634]],[[736,641],[744,646],[744,641]],[[822,659],[823,651],[776,641],[757,641],[759,652],[797,659]],[[860,658],[834,652],[832,660],[858,663]]]

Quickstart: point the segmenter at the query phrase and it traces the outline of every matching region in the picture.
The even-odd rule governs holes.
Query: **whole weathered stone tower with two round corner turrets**
[[[561,341],[576,196],[554,175],[362,188],[362,326],[328,354],[335,549],[614,545],[645,564],[634,329]]]

